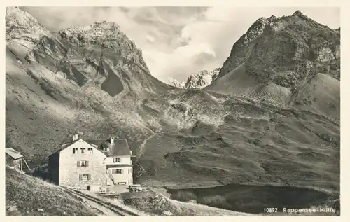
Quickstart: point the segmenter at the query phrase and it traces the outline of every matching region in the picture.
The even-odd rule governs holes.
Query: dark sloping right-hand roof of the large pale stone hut
[[[96,145],[107,156],[131,155],[126,139],[114,139],[113,146],[111,146],[111,139],[84,139],[84,141]],[[103,148],[108,147],[109,151],[103,151]]]

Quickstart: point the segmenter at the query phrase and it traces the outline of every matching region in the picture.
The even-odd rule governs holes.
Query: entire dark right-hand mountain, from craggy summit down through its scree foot
[[[336,89],[325,93],[338,95],[332,97],[335,101],[329,106],[339,104],[339,29],[330,29],[296,11],[281,18],[272,15],[258,19],[234,44],[218,78],[205,89],[269,100],[282,106],[299,106],[299,102],[295,104],[295,95],[300,88],[311,90],[307,84],[316,83],[311,80],[317,74],[335,79],[335,83],[332,81],[331,84]],[[324,75],[318,76],[317,81],[324,84],[321,80]],[[316,109],[313,102],[307,104],[313,111],[339,118],[337,105],[337,109],[330,111],[328,107],[318,105]]]

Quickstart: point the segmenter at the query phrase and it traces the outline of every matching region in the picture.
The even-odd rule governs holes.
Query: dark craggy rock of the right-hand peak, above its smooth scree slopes
[[[247,73],[258,81],[281,86],[293,87],[297,82],[293,78],[319,72],[339,79],[340,34],[300,11],[281,18],[260,18],[235,43],[218,78],[244,62]]]

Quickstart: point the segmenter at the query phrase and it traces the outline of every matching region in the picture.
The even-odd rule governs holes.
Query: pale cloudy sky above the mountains
[[[21,7],[52,31],[106,20],[142,50],[160,81],[185,80],[201,70],[222,67],[233,44],[258,18],[304,15],[332,29],[340,27],[339,8],[213,7]]]

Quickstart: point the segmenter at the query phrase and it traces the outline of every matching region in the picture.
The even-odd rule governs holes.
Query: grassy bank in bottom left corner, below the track
[[[6,167],[6,216],[94,216],[81,200]]]

